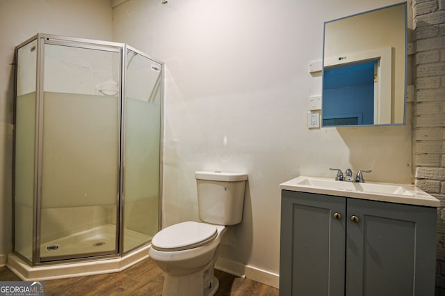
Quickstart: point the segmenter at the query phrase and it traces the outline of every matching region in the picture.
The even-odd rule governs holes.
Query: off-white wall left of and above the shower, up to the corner
[[[111,0],[0,0],[0,265],[12,251],[14,48],[36,33],[112,39]]]

